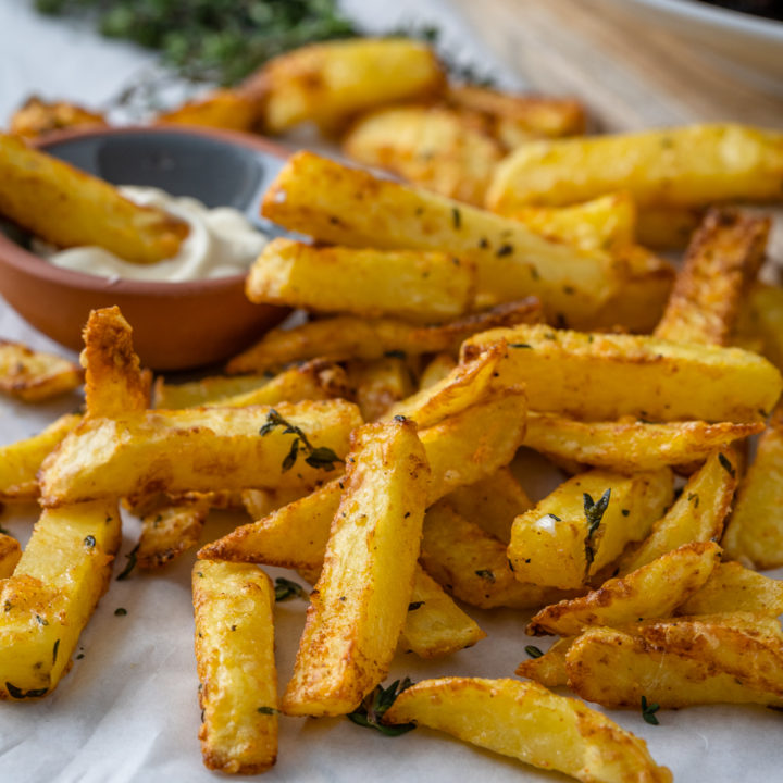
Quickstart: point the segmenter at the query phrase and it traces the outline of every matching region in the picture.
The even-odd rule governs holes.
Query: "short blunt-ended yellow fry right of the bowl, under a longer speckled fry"
[[[273,239],[245,283],[253,302],[433,323],[473,309],[475,265],[445,252],[313,247]]]

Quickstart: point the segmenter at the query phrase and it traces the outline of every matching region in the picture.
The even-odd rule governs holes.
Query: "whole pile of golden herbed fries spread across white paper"
[[[664,782],[643,739],[549,688],[649,723],[691,705],[783,707],[783,583],[756,571],[783,566],[783,289],[758,283],[769,220],[720,206],[783,196],[781,136],[531,141],[580,132],[579,107],[540,100],[526,115],[520,99],[446,86],[409,41],[311,47],[166,119],[236,120],[238,105],[268,130],[349,127],[352,154],[428,189],[294,156],[262,213],[312,241],[272,241],[246,290],[311,318],[225,375],[152,383],[122,313],[91,313],[84,413],[0,449],[0,499],[42,508],[24,552],[0,536],[0,697],[45,697],[67,671],[124,505],[142,520],[128,568],[202,544],[210,769],[269,769],[283,713],[387,734],[426,725],[585,782]],[[489,150],[512,147],[495,171]],[[452,153],[459,187],[443,169]],[[462,176],[483,166],[474,153],[493,160],[481,187]],[[666,245],[694,216],[679,272],[639,244],[662,226]],[[150,247],[171,240],[165,220],[146,229]],[[2,349],[3,390],[34,400],[80,381]],[[537,502],[521,447],[564,474]],[[202,543],[212,508],[251,521]],[[282,695],[274,602],[297,586],[272,585],[264,566],[313,585]],[[397,651],[487,644],[463,605],[519,610],[529,634],[559,638],[527,648],[525,681],[465,672],[384,688]]]

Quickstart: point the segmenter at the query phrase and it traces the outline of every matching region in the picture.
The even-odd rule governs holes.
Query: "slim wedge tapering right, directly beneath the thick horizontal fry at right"
[[[524,445],[547,457],[617,471],[649,471],[706,460],[716,449],[761,432],[761,422],[580,422],[527,414]]]

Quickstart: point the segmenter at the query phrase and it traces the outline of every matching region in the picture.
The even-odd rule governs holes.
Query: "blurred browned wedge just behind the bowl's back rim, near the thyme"
[[[263,103],[258,96],[244,90],[219,89],[158,114],[156,123],[202,125],[248,133],[257,128],[262,115]]]

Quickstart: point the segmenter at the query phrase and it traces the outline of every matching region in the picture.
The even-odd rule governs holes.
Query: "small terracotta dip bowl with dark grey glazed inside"
[[[40,145],[50,154],[117,185],[150,185],[208,207],[235,207],[259,228],[259,202],[287,152],[245,134],[196,127],[65,132]],[[3,231],[4,228],[4,231]],[[284,308],[250,303],[244,275],[187,283],[112,282],[59,269],[0,226],[0,294],[25,321],[78,350],[89,311],[117,304],[145,366],[184,370],[220,362],[279,323]]]

